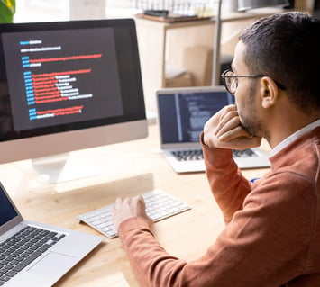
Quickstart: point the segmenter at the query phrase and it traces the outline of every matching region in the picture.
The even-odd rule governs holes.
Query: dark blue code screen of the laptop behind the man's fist
[[[197,142],[206,121],[234,103],[225,91],[187,91],[158,95],[162,144]]]

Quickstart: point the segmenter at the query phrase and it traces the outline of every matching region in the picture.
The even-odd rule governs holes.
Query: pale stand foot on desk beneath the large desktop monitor
[[[87,160],[84,162],[83,157],[73,157],[69,153],[33,158],[32,167],[44,181],[50,184],[59,184],[100,173],[95,165],[90,165]]]

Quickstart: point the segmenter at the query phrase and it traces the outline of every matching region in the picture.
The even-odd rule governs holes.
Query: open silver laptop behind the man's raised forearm
[[[177,173],[202,172],[205,164],[199,136],[206,121],[234,103],[224,86],[161,89],[156,92],[160,148]],[[268,167],[268,153],[260,148],[233,150],[240,168]]]

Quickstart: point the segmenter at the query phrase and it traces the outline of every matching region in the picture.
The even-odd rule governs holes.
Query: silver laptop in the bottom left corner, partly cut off
[[[0,286],[51,286],[103,238],[23,220],[0,184]]]

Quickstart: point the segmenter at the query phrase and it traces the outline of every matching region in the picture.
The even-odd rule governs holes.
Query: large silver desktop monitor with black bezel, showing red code
[[[39,157],[147,136],[132,19],[2,24],[0,36],[0,163],[38,158],[54,182],[61,171]]]

